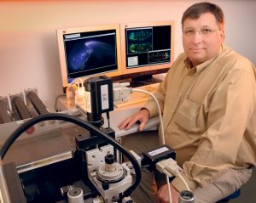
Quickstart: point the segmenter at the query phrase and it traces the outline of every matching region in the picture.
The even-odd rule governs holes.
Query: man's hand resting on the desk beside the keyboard
[[[135,113],[134,115],[126,118],[125,121],[122,121],[121,123],[119,123],[118,127],[120,130],[122,129],[128,130],[134,123],[136,123],[137,121],[140,121],[139,130],[142,131],[143,128],[148,123],[148,118],[149,118],[148,110],[142,109],[137,113]]]

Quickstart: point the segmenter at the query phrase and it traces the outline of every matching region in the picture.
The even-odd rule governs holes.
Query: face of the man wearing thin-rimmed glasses
[[[199,19],[187,19],[183,23],[184,52],[194,66],[217,56],[223,41],[223,28],[219,29],[211,13],[201,14]]]

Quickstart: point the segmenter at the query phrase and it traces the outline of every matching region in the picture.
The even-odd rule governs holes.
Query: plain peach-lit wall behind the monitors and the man
[[[199,1],[94,0],[0,2],[0,96],[37,87],[52,107],[62,93],[56,29],[150,20],[175,20],[175,58],[183,51],[180,20]],[[256,1],[218,0],[226,44],[256,64]]]

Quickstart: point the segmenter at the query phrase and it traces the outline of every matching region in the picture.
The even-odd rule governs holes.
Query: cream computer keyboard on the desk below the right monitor
[[[149,93],[155,93],[160,86],[160,83],[154,83],[154,84],[149,84],[141,87],[136,87],[138,89],[143,89],[145,91],[148,91]],[[130,99],[127,99],[125,101],[122,101],[119,104],[114,104],[115,107],[124,107],[124,106],[129,106],[132,104],[139,104],[146,102],[150,96],[146,93],[139,93],[139,92],[133,92],[130,95]]]

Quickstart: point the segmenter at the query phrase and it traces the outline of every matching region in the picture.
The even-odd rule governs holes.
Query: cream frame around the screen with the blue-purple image
[[[120,31],[119,24],[111,24],[111,25],[89,25],[84,27],[72,27],[72,28],[63,28],[57,29],[57,40],[58,40],[58,50],[60,57],[60,65],[61,65],[61,82],[62,87],[65,92],[68,86],[68,78],[67,78],[67,63],[66,63],[66,52],[65,52],[65,44],[64,44],[64,35],[67,34],[75,34],[79,32],[90,32],[90,31],[116,31],[116,52],[117,52],[117,70],[103,72],[102,74],[93,74],[89,76],[83,76],[83,82],[91,77],[91,76],[109,76],[111,78],[119,78],[121,75],[121,51],[120,51]],[[78,80],[79,82],[79,80]]]

